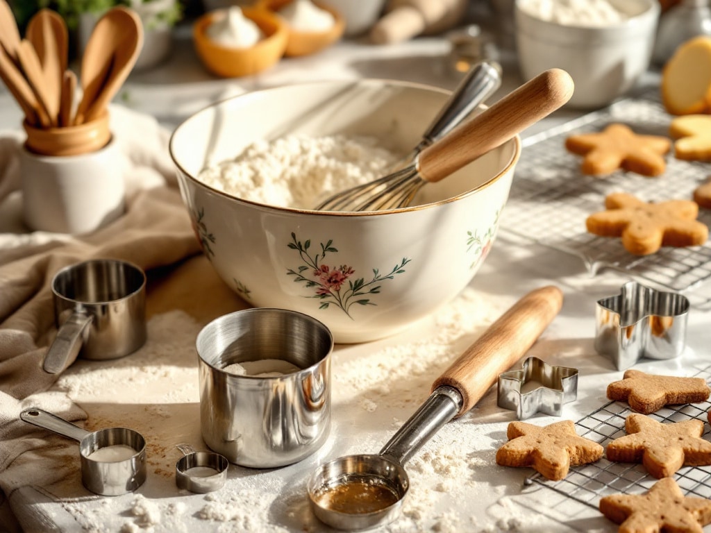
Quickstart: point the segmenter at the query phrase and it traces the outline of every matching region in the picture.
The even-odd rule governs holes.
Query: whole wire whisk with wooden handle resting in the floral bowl
[[[572,96],[565,70],[540,73],[481,114],[424,146],[405,168],[333,195],[316,210],[373,211],[408,205],[426,183],[445,178],[547,117]]]

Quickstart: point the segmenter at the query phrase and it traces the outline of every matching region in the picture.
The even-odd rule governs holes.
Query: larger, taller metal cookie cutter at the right
[[[628,281],[618,296],[597,301],[595,350],[614,362],[617,370],[640,357],[672,359],[684,350],[689,301]]]

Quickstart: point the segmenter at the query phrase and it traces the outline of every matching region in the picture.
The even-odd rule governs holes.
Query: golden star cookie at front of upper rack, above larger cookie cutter
[[[646,203],[628,193],[612,193],[605,208],[587,217],[587,231],[622,237],[622,245],[634,255],[653,254],[663,246],[699,246],[708,238],[708,227],[696,220],[699,206],[691,200]]]

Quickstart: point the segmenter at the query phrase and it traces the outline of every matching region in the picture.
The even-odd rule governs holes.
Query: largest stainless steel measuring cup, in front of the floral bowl
[[[252,308],[216,318],[196,340],[200,425],[230,463],[276,468],[301,461],[331,429],[331,352],[326,325],[296,311]],[[288,362],[281,375],[237,375],[247,362]]]

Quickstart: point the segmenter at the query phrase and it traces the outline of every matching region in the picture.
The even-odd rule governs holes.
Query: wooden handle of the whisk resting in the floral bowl
[[[562,107],[573,94],[565,70],[540,73],[469,121],[457,126],[419,154],[417,170],[427,181],[439,181],[495,149]]]

